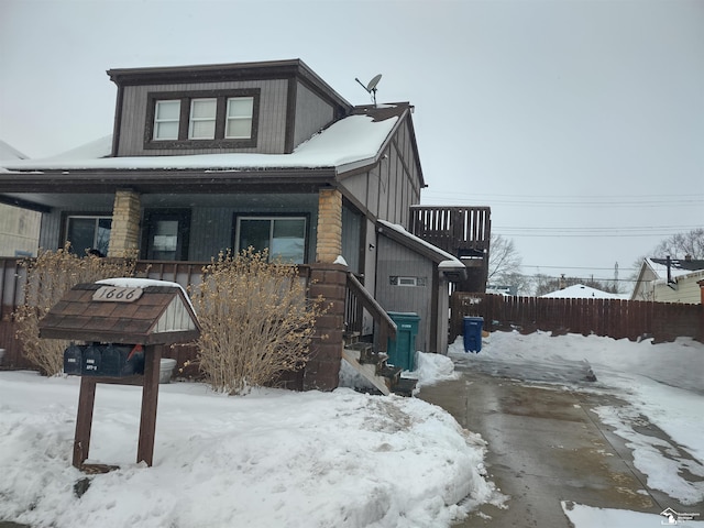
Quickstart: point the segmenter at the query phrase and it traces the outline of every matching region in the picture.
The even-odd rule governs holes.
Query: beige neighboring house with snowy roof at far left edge
[[[26,160],[26,156],[0,141],[0,166],[16,160]],[[36,256],[41,222],[41,213],[0,199],[0,256]]]

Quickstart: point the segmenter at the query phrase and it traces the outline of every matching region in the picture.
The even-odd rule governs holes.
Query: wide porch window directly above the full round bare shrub
[[[268,250],[270,260],[302,264],[306,257],[306,219],[301,217],[242,217],[237,226],[238,251]]]

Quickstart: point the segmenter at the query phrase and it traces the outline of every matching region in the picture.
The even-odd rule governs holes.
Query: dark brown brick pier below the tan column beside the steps
[[[338,253],[339,254],[339,253]],[[324,298],[328,312],[316,321],[311,354],[304,371],[304,391],[332,391],[338,387],[342,361],[346,266],[310,266],[309,296]]]

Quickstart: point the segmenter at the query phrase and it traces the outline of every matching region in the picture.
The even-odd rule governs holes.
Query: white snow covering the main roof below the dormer
[[[375,161],[381,147],[398,121],[398,116],[375,120],[371,116],[349,116],[301,143],[290,154],[201,154],[184,156],[105,157],[112,139],[98,141],[58,156],[36,161],[0,163],[9,170],[138,170],[202,169],[237,172],[262,168],[321,168],[350,170]]]

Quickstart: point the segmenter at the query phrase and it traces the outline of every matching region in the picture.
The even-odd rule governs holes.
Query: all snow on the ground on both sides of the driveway
[[[634,450],[648,485],[682,504],[704,499],[704,345],[594,336],[494,332],[479,354],[418,354],[419,387],[454,364],[628,402],[593,409]],[[583,380],[592,369],[596,382]],[[578,373],[575,375],[574,373]],[[542,376],[542,378],[541,378]],[[353,375],[343,370],[341,383]],[[0,372],[0,519],[34,527],[448,527],[503,497],[482,474],[485,442],[416,398],[258,389],[228,397],[162,385],[154,466],[134,463],[141,391],[100,385],[89,462],[121,469],[82,479],[70,465],[79,380]],[[651,422],[671,442],[642,435]],[[686,470],[700,482],[688,482]],[[459,506],[458,506],[459,503]],[[654,526],[664,517],[563,504],[576,528]],[[698,520],[698,519],[697,519]],[[690,520],[684,526],[701,526]]]

